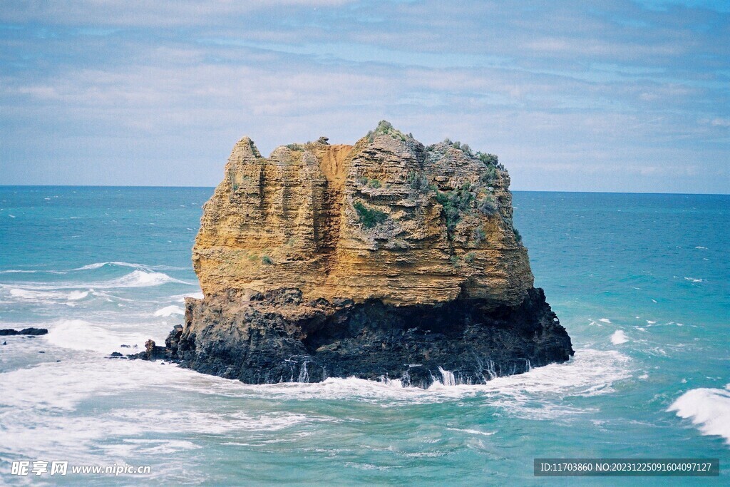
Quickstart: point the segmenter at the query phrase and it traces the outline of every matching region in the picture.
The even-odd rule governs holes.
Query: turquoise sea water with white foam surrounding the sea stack
[[[721,478],[672,484],[728,482],[730,196],[516,192],[575,358],[423,391],[105,358],[164,340],[199,295],[190,249],[211,193],[0,187],[0,328],[50,330],[0,340],[0,483],[668,483],[534,478],[551,456],[719,458]],[[151,474],[11,475],[23,460]]]

